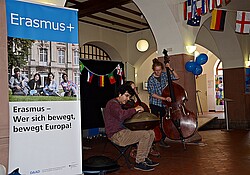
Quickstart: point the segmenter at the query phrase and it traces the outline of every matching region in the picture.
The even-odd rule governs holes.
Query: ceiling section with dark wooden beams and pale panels
[[[79,22],[123,33],[149,29],[132,0],[67,0],[65,7],[78,9]]]

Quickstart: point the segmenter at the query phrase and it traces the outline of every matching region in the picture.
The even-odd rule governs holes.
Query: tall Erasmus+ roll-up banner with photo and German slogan
[[[10,0],[6,16],[8,173],[82,174],[77,11]]]

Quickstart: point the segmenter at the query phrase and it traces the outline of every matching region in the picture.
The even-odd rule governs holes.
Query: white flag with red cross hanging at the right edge
[[[250,32],[250,12],[237,11],[235,32]]]

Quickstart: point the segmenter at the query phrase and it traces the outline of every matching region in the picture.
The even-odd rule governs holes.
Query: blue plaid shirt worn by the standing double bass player
[[[173,74],[171,74],[171,79],[176,80]],[[162,96],[163,89],[168,85],[168,76],[166,72],[161,74],[161,82],[159,82],[153,73],[148,78],[148,93],[149,93],[149,104],[164,107],[162,100],[152,97],[153,94]]]

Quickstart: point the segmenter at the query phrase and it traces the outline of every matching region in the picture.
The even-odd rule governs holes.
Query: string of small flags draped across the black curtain
[[[83,69],[86,69],[88,71],[88,77],[87,77],[87,82],[88,83],[92,83],[93,77],[97,76],[98,77],[98,84],[99,84],[100,87],[104,87],[104,78],[105,77],[109,78],[110,84],[115,84],[116,79],[114,77],[114,71],[116,70],[117,75],[119,75],[119,77],[120,77],[120,82],[121,82],[121,84],[123,84],[123,71],[122,71],[122,68],[120,67],[120,64],[118,64],[116,66],[116,68],[114,70],[112,70],[110,73],[103,74],[103,75],[92,72],[81,61],[79,62],[79,66],[80,66],[80,72],[81,73],[82,73]]]

